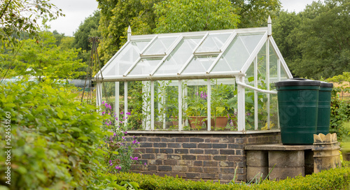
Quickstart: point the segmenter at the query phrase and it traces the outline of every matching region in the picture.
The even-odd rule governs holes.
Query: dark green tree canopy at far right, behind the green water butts
[[[313,2],[304,11],[281,12],[274,38],[295,76],[320,79],[350,71],[350,1]]]

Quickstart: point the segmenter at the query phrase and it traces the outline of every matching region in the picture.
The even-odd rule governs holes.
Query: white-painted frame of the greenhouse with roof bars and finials
[[[258,92],[267,94],[267,129],[269,129],[269,94],[276,94],[276,91],[270,90],[269,85],[267,89],[259,89],[258,81],[254,80],[253,85],[246,84],[246,72],[249,66],[253,64],[254,66],[254,78],[258,76],[258,53],[262,47],[266,47],[266,68],[269,68],[269,48],[272,48],[276,52],[277,56],[277,78],[274,78],[274,82],[281,81],[281,79],[293,78],[290,73],[286,62],[284,61],[279,48],[277,47],[274,38],[272,37],[271,31],[271,21],[267,24],[267,27],[260,28],[249,28],[249,29],[228,29],[228,30],[218,30],[218,31],[197,31],[197,32],[183,32],[175,34],[150,34],[150,35],[139,35],[132,36],[131,29],[128,29],[127,43],[118,50],[118,52],[107,62],[107,64],[94,76],[94,80],[97,82],[97,105],[102,104],[102,79],[104,82],[116,82],[116,97],[119,97],[119,84],[120,82],[125,82],[125,114],[127,113],[127,82],[128,81],[151,81],[151,124],[146,130],[155,131],[155,101],[154,101],[154,81],[156,80],[178,80],[179,85],[179,108],[182,106],[183,93],[181,91],[181,85],[183,80],[190,79],[216,79],[216,78],[232,78],[232,83],[237,84],[237,126],[238,131],[246,131],[245,122],[245,89],[252,89],[254,91],[254,108],[258,108]],[[255,35],[255,37],[254,37]],[[214,37],[213,37],[214,36]],[[240,36],[244,36],[246,41],[252,38],[258,38],[259,41],[251,41],[251,46],[247,47],[248,43],[244,42]],[[238,39],[239,38],[239,39]],[[183,48],[184,41],[188,39],[189,41],[195,39],[197,45],[191,47],[192,52],[183,50],[186,52],[188,57],[185,57],[187,61],[180,63],[179,65],[171,64],[172,55],[176,51],[180,51]],[[223,41],[220,41],[224,39]],[[217,41],[216,41],[217,40]],[[239,41],[240,40],[240,41]],[[230,48],[234,48],[236,41],[241,43],[241,46],[235,47],[236,50],[241,50],[242,52],[248,52],[244,55],[241,54],[229,54]],[[207,45],[209,44],[209,45]],[[214,44],[214,45],[213,45]],[[253,44],[253,46],[252,46]],[[207,45],[207,46],[206,46]],[[215,46],[216,45],[216,46]],[[231,46],[230,46],[231,45]],[[239,45],[239,44],[238,44]],[[188,46],[189,47],[189,46]],[[186,47],[186,48],[188,48]],[[248,50],[248,48],[250,50]],[[204,50],[202,50],[204,49]],[[207,49],[207,50],[205,50]],[[242,50],[243,49],[243,50]],[[243,59],[239,62],[241,65],[235,65],[235,60],[228,60],[228,67],[225,67],[223,61],[225,55]],[[213,56],[216,57],[214,61],[206,67],[203,66],[202,71],[186,71],[190,70],[191,64],[195,61],[194,57],[203,56]],[[243,57],[243,58],[242,58]],[[123,59],[123,60],[122,60]],[[176,59],[176,57],[174,58]],[[149,60],[149,61],[148,61]],[[225,59],[226,60],[226,59]],[[151,61],[153,61],[151,63]],[[158,61],[158,62],[157,62]],[[176,62],[177,63],[177,62]],[[148,64],[142,66],[142,64]],[[169,66],[164,66],[169,64]],[[178,63],[177,63],[178,64]],[[223,66],[221,66],[221,65]],[[275,64],[275,63],[274,63]],[[221,66],[222,71],[214,71],[216,66]],[[239,69],[233,68],[239,67]],[[169,69],[168,69],[169,68]],[[195,63],[193,63],[193,68],[196,68]],[[173,71],[171,71],[173,69]],[[148,71],[149,70],[149,71]],[[281,78],[281,71],[284,71],[284,78]],[[164,72],[161,73],[160,71]],[[148,72],[148,73],[147,73]],[[168,72],[168,73],[167,73]],[[266,69],[266,83],[272,82],[270,78],[269,69]],[[271,80],[271,81],[270,81]],[[211,131],[211,80],[207,80],[207,118],[208,127],[207,131]],[[119,105],[119,98],[115,99],[115,105]],[[119,106],[116,106],[116,112],[120,112]],[[182,109],[179,109],[179,121],[182,119]],[[127,117],[127,115],[125,115]],[[258,129],[258,109],[255,109],[255,130]],[[183,124],[179,122],[179,131],[183,131]]]

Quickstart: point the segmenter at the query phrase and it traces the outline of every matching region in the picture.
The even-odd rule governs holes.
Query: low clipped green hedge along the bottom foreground
[[[118,173],[109,176],[109,180],[120,182],[137,182],[140,189],[349,189],[350,164],[343,168],[335,168],[314,173],[306,177],[288,178],[286,180],[265,180],[261,184],[220,184],[219,182],[183,180],[179,177],[160,177],[141,173]]]

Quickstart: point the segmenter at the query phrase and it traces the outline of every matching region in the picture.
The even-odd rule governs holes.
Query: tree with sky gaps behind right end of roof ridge
[[[266,27],[267,17],[276,17],[279,0],[231,0],[235,13],[241,17],[238,28]]]

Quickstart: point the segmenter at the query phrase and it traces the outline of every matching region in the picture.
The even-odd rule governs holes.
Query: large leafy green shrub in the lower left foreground
[[[74,101],[73,87],[50,80],[1,84],[0,91],[1,123],[10,115],[12,147],[9,164],[0,152],[1,185],[7,186],[8,166],[9,189],[89,189],[96,183],[103,162],[96,147],[104,132],[95,106]],[[4,129],[1,147],[8,139]]]

